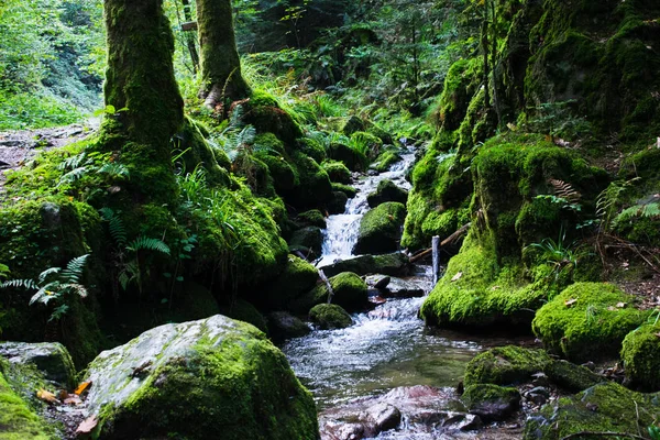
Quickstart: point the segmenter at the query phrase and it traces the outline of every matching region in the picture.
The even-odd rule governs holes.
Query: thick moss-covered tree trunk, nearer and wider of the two
[[[170,140],[184,123],[174,77],[174,36],[163,0],[106,0],[108,69],[98,148],[130,173],[122,191],[133,201],[169,202],[176,193]],[[110,109],[107,107],[107,111]]]

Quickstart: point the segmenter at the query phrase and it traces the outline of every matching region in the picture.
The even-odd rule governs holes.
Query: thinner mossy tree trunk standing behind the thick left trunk
[[[201,47],[200,96],[209,107],[250,95],[241,74],[231,0],[197,0],[199,45]]]

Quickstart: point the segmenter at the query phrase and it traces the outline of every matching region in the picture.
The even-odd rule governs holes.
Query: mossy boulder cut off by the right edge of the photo
[[[660,391],[660,323],[648,323],[624,339],[622,359],[626,377],[647,392]]]

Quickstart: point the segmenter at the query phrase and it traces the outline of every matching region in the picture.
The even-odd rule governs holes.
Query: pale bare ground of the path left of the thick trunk
[[[100,119],[90,118],[81,123],[38,130],[0,132],[0,193],[7,180],[3,172],[18,169],[42,151],[58,148],[92,134]]]

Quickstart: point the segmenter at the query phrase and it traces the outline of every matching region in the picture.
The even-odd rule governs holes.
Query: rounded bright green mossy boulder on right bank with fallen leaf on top
[[[578,283],[537,312],[534,332],[548,350],[574,362],[616,358],[626,334],[648,317],[634,302],[614,285]]]

